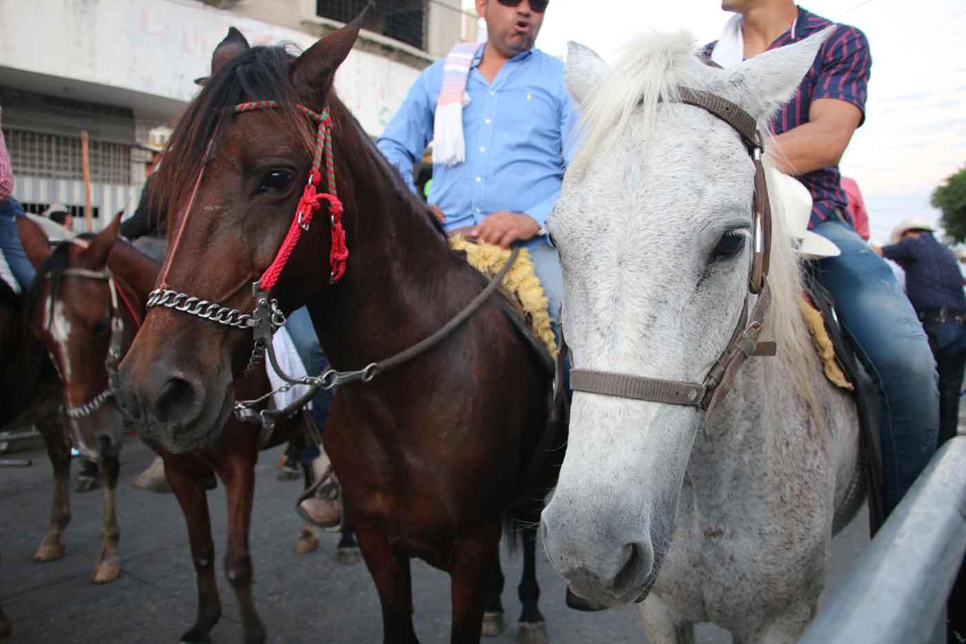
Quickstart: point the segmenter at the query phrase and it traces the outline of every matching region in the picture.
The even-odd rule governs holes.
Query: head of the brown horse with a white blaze
[[[60,373],[74,444],[95,461],[117,456],[125,429],[116,406],[105,404],[114,392],[104,368],[114,333],[124,330],[114,331],[121,313],[112,307],[110,289],[116,287],[106,272],[120,221],[47,249],[45,256],[31,255],[37,278],[28,297],[29,330]],[[128,326],[128,339],[133,333]]]

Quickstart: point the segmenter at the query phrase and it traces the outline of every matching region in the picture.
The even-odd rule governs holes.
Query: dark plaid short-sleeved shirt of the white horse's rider
[[[798,17],[791,28],[768,48],[775,49],[798,42],[832,24],[834,23],[831,20],[799,7]],[[711,55],[716,43],[717,41],[705,45],[705,56]],[[772,118],[772,132],[781,134],[808,123],[811,102],[818,99],[837,99],[852,103],[862,110],[862,119],[859,122],[861,126],[866,120],[867,84],[871,66],[872,58],[866,35],[855,27],[838,25],[838,29],[818,50],[815,62],[802,79],[795,96],[782,105],[781,111]],[[811,192],[809,228],[821,221],[835,219],[836,210],[854,225],[840,178],[838,165],[823,167],[798,177]]]

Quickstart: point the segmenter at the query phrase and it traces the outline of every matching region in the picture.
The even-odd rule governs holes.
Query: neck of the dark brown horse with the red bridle
[[[355,368],[439,329],[479,291],[479,282],[461,270],[469,265],[448,249],[423,204],[348,112],[336,114],[342,117],[340,156],[352,160],[336,158],[349,263],[345,276],[309,307],[332,364]]]

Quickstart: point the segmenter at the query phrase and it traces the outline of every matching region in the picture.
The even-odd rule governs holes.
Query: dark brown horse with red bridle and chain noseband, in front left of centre
[[[283,311],[307,305],[343,369],[431,336],[482,288],[332,90],[357,34],[355,22],[298,58],[254,47],[214,70],[156,176],[171,205],[162,284],[252,310],[252,283],[282,245],[309,173],[317,122],[298,105],[328,111],[347,269],[329,283],[335,213],[324,205],[271,297]],[[277,108],[233,116],[241,102],[268,100]],[[152,308],[122,363],[121,403],[169,452],[217,444],[252,347],[247,330]],[[479,641],[485,607],[499,609],[504,519],[524,526],[522,637],[543,641],[533,551],[566,427],[548,424],[552,381],[493,297],[432,349],[339,387],[323,439],[379,591],[385,642],[417,641],[412,557],[451,575],[451,640]]]

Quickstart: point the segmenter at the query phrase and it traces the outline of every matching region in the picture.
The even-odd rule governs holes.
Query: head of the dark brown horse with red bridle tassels
[[[239,51],[213,57],[212,76],[172,134],[156,177],[169,242],[157,297],[217,303],[241,322],[218,324],[199,317],[198,307],[189,315],[189,306],[149,301],[122,363],[121,399],[142,437],[170,452],[212,445],[231,413],[232,383],[252,364],[244,320],[256,307],[253,284],[288,312],[324,292],[339,271],[326,260],[344,239],[333,233],[340,212],[319,195],[336,191],[327,162],[340,166],[351,156],[339,136],[357,126],[332,83],[359,27],[356,20],[298,56],[236,39]],[[350,191],[345,176],[337,180]],[[306,205],[316,203],[309,223]],[[293,234],[300,235],[294,247],[285,241]]]

